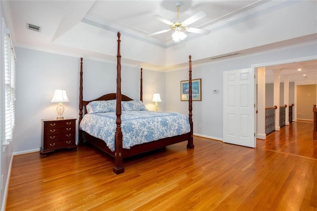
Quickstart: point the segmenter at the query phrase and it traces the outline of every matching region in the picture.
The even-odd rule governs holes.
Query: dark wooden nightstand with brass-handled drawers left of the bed
[[[48,153],[61,149],[77,150],[76,119],[42,119],[42,158]]]

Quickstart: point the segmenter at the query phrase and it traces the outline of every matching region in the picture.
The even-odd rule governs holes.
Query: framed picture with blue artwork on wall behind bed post
[[[180,100],[189,100],[189,81],[180,82]],[[202,79],[192,80],[192,100],[201,101],[202,100]]]

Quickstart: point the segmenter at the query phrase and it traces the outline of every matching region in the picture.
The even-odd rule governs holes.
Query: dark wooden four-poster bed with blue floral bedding
[[[179,114],[180,116],[176,116],[175,113],[171,114],[173,117],[171,118],[182,118],[182,116],[185,116],[186,120],[162,120],[163,118],[165,118],[165,116],[169,115],[167,113],[163,113],[163,112],[155,112],[155,111],[146,111],[146,113],[153,113],[155,112],[156,114],[154,114],[154,118],[158,119],[159,118],[159,121],[157,120],[156,123],[148,123],[148,122],[142,122],[140,124],[143,124],[143,125],[151,125],[153,124],[154,128],[157,128],[157,127],[160,127],[160,126],[157,126],[157,124],[159,124],[158,122],[160,121],[165,121],[164,124],[166,124],[166,122],[173,122],[173,125],[169,126],[168,128],[165,128],[164,130],[167,131],[167,133],[171,132],[171,133],[176,133],[177,135],[173,135],[172,137],[170,137],[170,135],[168,137],[164,137],[164,138],[160,138],[160,139],[154,139],[152,141],[149,141],[149,142],[145,142],[145,143],[138,143],[134,146],[128,146],[126,147],[126,140],[127,139],[130,139],[130,138],[133,138],[133,137],[128,137],[126,134],[127,134],[127,127],[124,126],[124,125],[129,125],[129,124],[132,124],[131,122],[127,123],[130,119],[129,117],[127,117],[126,115],[128,115],[127,113],[129,112],[130,114],[130,111],[126,111],[126,110],[129,110],[127,109],[127,104],[137,104],[139,106],[139,108],[141,107],[141,109],[138,109],[138,111],[132,111],[131,109],[131,113],[133,112],[144,112],[144,110],[147,110],[146,108],[145,109],[142,109],[142,95],[143,95],[143,91],[142,91],[142,68],[141,68],[141,91],[140,91],[140,102],[135,102],[133,101],[133,99],[125,96],[125,95],[122,95],[121,94],[121,55],[120,55],[120,33],[118,32],[117,33],[117,37],[118,37],[118,40],[117,40],[117,79],[116,79],[116,82],[117,82],[117,85],[116,85],[116,93],[111,93],[111,94],[106,94],[106,95],[103,95],[97,99],[94,99],[94,100],[91,100],[91,101],[84,101],[83,100],[83,58],[81,58],[81,62],[80,62],[80,88],[79,88],[79,137],[78,137],[78,144],[81,145],[83,144],[84,142],[85,143],[89,143],[97,148],[99,148],[100,150],[102,150],[103,152],[106,152],[106,154],[112,156],[114,158],[114,166],[113,166],[113,172],[115,174],[120,174],[120,173],[123,173],[124,172],[124,166],[123,166],[123,158],[127,158],[127,157],[130,157],[130,156],[134,156],[134,155],[138,155],[138,154],[141,154],[141,153],[144,153],[144,152],[148,152],[148,151],[152,151],[152,150],[155,150],[155,149],[159,149],[159,148],[162,148],[162,147],[165,147],[165,146],[168,146],[168,145],[172,145],[172,144],[176,144],[176,143],[179,143],[179,142],[183,142],[183,141],[188,141],[187,143],[187,148],[189,149],[192,149],[194,148],[194,143],[193,143],[193,121],[192,121],[192,70],[191,70],[191,56],[189,56],[189,115],[188,116],[185,116],[183,114]],[[94,107],[94,109],[99,109],[100,105],[102,104],[107,104],[107,105],[111,105],[113,106],[113,104],[115,103],[115,117],[114,117],[114,112],[107,112],[106,114],[104,113],[95,113],[94,116],[98,116],[96,118],[102,118],[101,116],[107,116],[110,118],[110,120],[107,120],[107,122],[109,123],[110,121],[113,122],[113,127],[115,126],[115,129],[113,128],[113,131],[115,131],[114,133],[114,143],[113,143],[113,146],[111,147],[111,143],[107,142],[108,145],[106,144],[106,141],[105,140],[102,140],[102,138],[97,138],[98,137],[98,134],[94,134],[94,135],[90,135],[88,132],[84,131],[84,126],[87,124],[87,125],[90,125],[90,124],[95,124],[95,123],[92,123],[92,121],[90,121],[89,123],[85,123],[84,120],[90,118],[90,114],[88,115],[85,115],[84,114],[87,114],[87,113],[90,113],[92,109],[92,106],[94,106],[94,104],[96,104],[97,106]],[[141,106],[140,106],[141,105]],[[88,109],[87,109],[88,108]],[[85,113],[83,113],[83,109],[85,111]],[[107,108],[108,109],[108,108]],[[123,109],[123,111],[122,111]],[[111,110],[111,111],[114,111]],[[121,114],[122,114],[122,120],[121,120]],[[166,115],[165,115],[166,114]],[[136,115],[139,115],[139,114],[136,114]],[[150,115],[150,114],[149,114]],[[152,114],[151,114],[152,115]],[[158,117],[158,115],[161,115],[162,117]],[[178,115],[178,114],[177,114]],[[85,117],[87,117],[85,119]],[[134,118],[134,117],[133,117]],[[166,118],[169,118],[169,117],[166,117]],[[102,120],[98,119],[97,121],[98,122],[101,122]],[[131,117],[132,119],[132,117]],[[83,121],[82,121],[83,120]],[[140,120],[141,121],[141,120]],[[142,121],[146,121],[143,120]],[[179,128],[181,126],[181,121],[186,121],[186,123],[184,123],[184,127],[186,129],[182,129],[182,128]],[[86,121],[87,122],[87,121]],[[114,123],[115,122],[115,123]],[[122,125],[121,125],[122,123]],[[104,123],[106,124],[106,123]],[[103,126],[104,126],[103,124]],[[187,125],[186,125],[187,124]],[[134,125],[133,125],[134,127]],[[88,129],[87,129],[88,130]],[[94,129],[94,131],[96,131],[97,129]],[[102,130],[102,129],[98,129],[99,130]],[[93,131],[93,132],[94,132]],[[182,131],[182,132],[181,132]],[[183,131],[186,131],[185,133]],[[93,133],[92,132],[92,133]],[[124,137],[123,137],[123,132],[124,132]],[[138,134],[139,132],[140,133],[145,133],[144,137],[141,137],[141,134],[140,134],[140,137],[136,138],[138,139],[137,141],[140,141],[142,138],[148,138],[151,134],[153,135],[155,133],[155,131],[143,131],[141,132],[141,129],[139,131],[139,129],[135,130],[135,131],[132,131],[134,132],[134,134]],[[160,131],[161,133],[161,131]],[[179,133],[179,134],[178,134]],[[105,132],[106,134],[106,132]],[[104,139],[107,139],[108,137],[106,135],[104,135],[105,138]],[[153,135],[154,137],[156,137],[156,135],[154,134]],[[112,136],[113,137],[113,136]],[[112,139],[112,142],[113,142],[113,138],[110,137],[110,139]],[[135,139],[135,138],[134,138]],[[140,140],[139,140],[140,139]],[[130,148],[130,149],[125,149],[125,148]]]

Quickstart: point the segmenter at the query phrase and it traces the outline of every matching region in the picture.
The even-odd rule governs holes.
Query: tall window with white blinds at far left
[[[5,143],[12,141],[15,119],[15,55],[9,34],[4,34],[4,121]]]

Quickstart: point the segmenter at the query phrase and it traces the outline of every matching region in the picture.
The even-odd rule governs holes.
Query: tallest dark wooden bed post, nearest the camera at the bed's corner
[[[116,129],[114,135],[114,166],[113,172],[120,174],[124,172],[123,159],[122,159],[122,131],[121,131],[121,54],[120,54],[120,32],[118,36],[118,52],[117,52],[117,91],[116,91]]]

